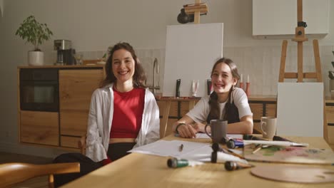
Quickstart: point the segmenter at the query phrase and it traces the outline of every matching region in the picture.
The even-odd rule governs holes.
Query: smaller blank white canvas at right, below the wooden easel
[[[323,137],[323,83],[278,83],[277,135]]]

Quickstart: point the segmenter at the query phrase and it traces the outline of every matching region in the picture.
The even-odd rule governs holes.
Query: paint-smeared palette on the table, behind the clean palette
[[[270,145],[254,152],[256,145],[245,145],[243,157],[260,162],[334,164],[334,152],[327,149]]]

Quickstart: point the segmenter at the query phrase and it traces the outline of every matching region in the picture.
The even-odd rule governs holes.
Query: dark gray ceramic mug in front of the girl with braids
[[[206,130],[206,127],[204,127],[204,130],[206,131],[206,135],[211,137],[212,142],[223,144],[225,143],[227,125],[227,120],[211,120],[209,124],[206,124],[206,127],[211,127],[211,135]]]

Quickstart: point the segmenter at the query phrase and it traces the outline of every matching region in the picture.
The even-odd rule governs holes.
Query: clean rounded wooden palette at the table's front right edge
[[[255,167],[251,174],[281,182],[325,183],[334,182],[334,170],[320,167],[266,166]]]

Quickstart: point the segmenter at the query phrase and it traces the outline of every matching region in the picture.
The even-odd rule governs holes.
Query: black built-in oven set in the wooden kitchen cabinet
[[[57,68],[20,69],[21,110],[59,111]]]

